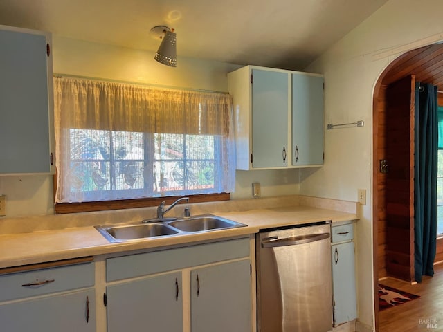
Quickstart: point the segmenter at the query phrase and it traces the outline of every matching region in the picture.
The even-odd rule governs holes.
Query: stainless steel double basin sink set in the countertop
[[[152,237],[168,237],[196,232],[227,230],[245,226],[243,223],[237,223],[236,221],[214,216],[213,214],[202,214],[200,216],[190,216],[183,219],[150,219],[138,223],[98,225],[95,227],[108,241],[117,243],[149,239]]]

